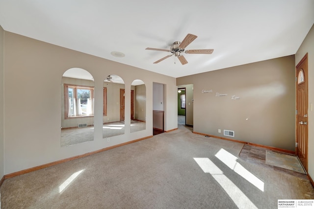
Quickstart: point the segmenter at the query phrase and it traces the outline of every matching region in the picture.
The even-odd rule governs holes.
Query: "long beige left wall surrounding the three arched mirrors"
[[[74,157],[153,134],[153,82],[166,84],[165,130],[177,128],[176,79],[150,71],[65,49],[4,31],[4,174]],[[1,46],[0,46],[1,47]],[[3,56],[2,56],[3,57]],[[61,78],[70,68],[87,70],[95,79],[94,141],[60,146]],[[1,69],[0,69],[1,70]],[[131,104],[131,83],[146,85],[146,130],[103,140],[103,85],[106,76],[125,81],[126,107]],[[31,102],[23,102],[31,101]],[[0,107],[3,105],[0,104]],[[131,117],[131,108],[125,109]],[[126,120],[130,127],[130,120]]]

